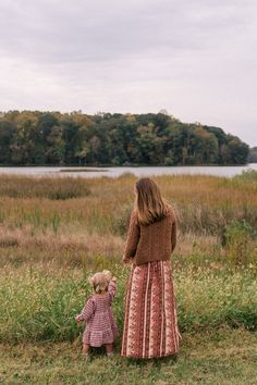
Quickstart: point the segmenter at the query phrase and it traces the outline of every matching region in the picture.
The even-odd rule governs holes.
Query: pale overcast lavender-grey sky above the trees
[[[9,110],[167,110],[257,146],[257,1],[1,0]]]

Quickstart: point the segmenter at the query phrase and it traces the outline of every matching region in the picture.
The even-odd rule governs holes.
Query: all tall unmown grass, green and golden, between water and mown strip
[[[256,330],[256,182],[191,175],[156,179],[180,222],[172,268],[181,330]],[[122,327],[128,270],[120,261],[135,181],[133,175],[40,183],[0,176],[2,343],[79,338],[74,315],[89,295],[88,274],[102,269],[118,276],[114,312]],[[222,245],[224,229],[229,236]]]

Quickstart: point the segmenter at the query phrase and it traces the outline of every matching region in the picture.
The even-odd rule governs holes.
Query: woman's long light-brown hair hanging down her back
[[[157,184],[149,177],[142,177],[135,184],[135,210],[138,224],[148,225],[167,216],[169,204],[161,197]]]

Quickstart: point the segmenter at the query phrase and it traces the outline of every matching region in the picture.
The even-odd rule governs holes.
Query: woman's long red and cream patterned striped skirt
[[[147,359],[175,355],[180,338],[170,262],[133,266],[121,355]]]

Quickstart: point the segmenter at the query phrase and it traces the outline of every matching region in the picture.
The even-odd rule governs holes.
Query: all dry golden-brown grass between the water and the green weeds
[[[135,181],[133,175],[100,179],[0,176],[1,263],[56,259],[76,264],[97,256],[119,260],[133,208]],[[249,239],[246,234],[241,246],[247,247],[241,247],[241,251],[236,243],[230,243],[230,248],[221,248],[221,244],[225,229],[235,222],[244,221],[257,231],[255,178],[166,175],[156,181],[176,209],[182,237],[179,245],[186,248],[191,243],[189,256],[203,259],[206,252],[217,260],[228,253],[233,262],[238,252],[241,260],[246,260],[245,249],[247,261],[253,262],[255,237]],[[79,197],[50,198],[57,189],[66,191],[74,186]],[[213,245],[205,251],[204,239],[208,238]],[[183,256],[179,248],[176,256]]]

